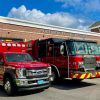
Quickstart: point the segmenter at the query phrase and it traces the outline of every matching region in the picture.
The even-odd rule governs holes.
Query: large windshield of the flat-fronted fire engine
[[[99,48],[96,43],[91,42],[73,42],[73,53],[79,55],[99,54]]]

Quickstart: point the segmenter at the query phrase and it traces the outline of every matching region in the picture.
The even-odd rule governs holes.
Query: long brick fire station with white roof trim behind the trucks
[[[94,40],[100,43],[100,33],[0,17],[0,40],[12,39],[28,41],[32,39],[44,39],[50,37]]]

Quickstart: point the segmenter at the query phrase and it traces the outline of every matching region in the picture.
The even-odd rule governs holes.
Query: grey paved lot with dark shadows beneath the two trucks
[[[24,91],[8,97],[0,87],[0,100],[100,100],[100,79],[81,83],[62,80],[45,91]]]

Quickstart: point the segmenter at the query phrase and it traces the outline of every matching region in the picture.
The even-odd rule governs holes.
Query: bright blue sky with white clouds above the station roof
[[[100,0],[0,0],[0,16],[89,30],[100,21]]]

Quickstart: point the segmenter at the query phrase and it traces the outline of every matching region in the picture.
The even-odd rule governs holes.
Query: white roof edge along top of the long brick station
[[[21,25],[21,26],[28,26],[28,27],[50,29],[50,30],[55,30],[55,31],[63,31],[63,32],[87,34],[87,35],[88,34],[91,34],[91,35],[92,34],[98,34],[98,35],[100,35],[100,33],[96,33],[96,32],[90,32],[90,31],[84,31],[84,30],[72,29],[72,28],[65,28],[65,27],[42,24],[42,23],[35,23],[35,22],[26,21],[26,20],[20,20],[20,19],[3,17],[3,16],[0,16],[0,22],[1,23]]]

